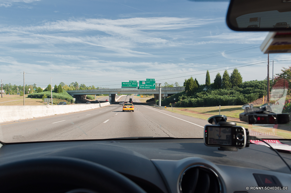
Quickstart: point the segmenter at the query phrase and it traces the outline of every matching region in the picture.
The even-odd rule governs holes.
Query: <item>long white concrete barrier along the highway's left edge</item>
[[[91,110],[108,105],[109,102],[82,105],[0,106],[0,123]]]

